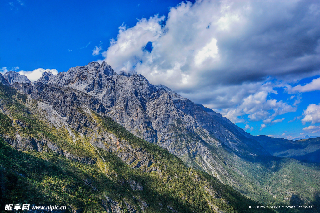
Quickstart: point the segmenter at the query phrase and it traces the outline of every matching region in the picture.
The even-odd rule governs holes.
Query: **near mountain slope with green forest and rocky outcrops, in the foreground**
[[[273,212],[249,209],[258,203],[134,136],[74,88],[0,84],[0,109],[2,203],[72,213]]]

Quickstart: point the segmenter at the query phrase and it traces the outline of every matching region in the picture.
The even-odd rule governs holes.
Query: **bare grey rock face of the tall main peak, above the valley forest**
[[[207,171],[221,182],[231,181],[224,156],[217,152],[221,144],[236,155],[270,155],[254,136],[221,114],[168,87],[154,86],[140,74],[117,74],[106,62],[72,67],[58,75],[44,73],[34,85],[39,83],[71,87],[95,97],[101,103],[98,113],[105,113],[136,136],[162,146],[188,166]],[[53,104],[57,108],[61,97],[50,99],[57,102]]]

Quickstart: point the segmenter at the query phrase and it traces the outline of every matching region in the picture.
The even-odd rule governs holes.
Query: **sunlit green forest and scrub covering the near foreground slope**
[[[118,202],[123,212],[128,212],[124,199],[140,212],[141,200],[148,203],[144,209],[146,213],[170,212],[167,205],[181,213],[214,212],[212,207],[223,212],[272,212],[248,209],[249,205],[257,203],[209,174],[188,168],[179,158],[135,137],[111,118],[77,108],[79,113],[90,117],[97,125],[95,136],[83,136],[70,126],[52,125],[35,100],[28,102],[27,98],[22,98],[23,95],[18,98],[19,93],[14,89],[0,86],[0,104],[5,112],[0,112],[2,212],[5,212],[4,204],[10,203],[68,206],[67,212],[71,207],[82,212],[106,212],[103,203],[108,199]],[[134,169],[116,153],[94,148],[89,142],[91,137],[106,132],[154,156],[152,166],[158,168],[149,172]],[[28,140],[14,142],[14,147],[20,150],[4,141],[8,137],[15,140],[15,133],[26,140],[44,141],[41,152],[30,148]],[[50,143],[76,159],[89,157],[96,163],[83,164],[58,155],[49,148]],[[129,179],[139,182],[144,190],[132,190]],[[110,209],[109,204],[105,205]]]

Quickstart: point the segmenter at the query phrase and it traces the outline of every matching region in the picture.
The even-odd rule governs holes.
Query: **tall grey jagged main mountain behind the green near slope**
[[[265,138],[246,133],[221,114],[183,98],[168,87],[152,85],[140,74],[117,74],[105,62],[101,65],[91,62],[58,75],[46,75],[37,82],[74,88],[96,97],[105,114],[135,136],[167,149],[189,167],[206,171],[259,202],[275,202],[275,197],[289,202],[297,192],[305,201],[314,197],[302,180],[302,185],[293,187],[283,181],[280,189],[266,186],[272,184],[268,181],[273,175],[280,177],[299,162],[272,157],[260,145]],[[314,170],[314,165],[299,166],[304,168],[303,176],[309,177]],[[318,175],[310,176],[310,181],[316,182]]]

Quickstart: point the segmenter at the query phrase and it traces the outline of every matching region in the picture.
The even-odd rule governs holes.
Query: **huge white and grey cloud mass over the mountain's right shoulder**
[[[320,13],[312,9],[319,5],[300,0],[181,2],[167,17],[154,15],[133,27],[119,27],[103,60],[116,72],[141,73],[153,84],[220,109],[234,123],[247,115],[267,124],[296,111],[300,103],[299,97],[294,104],[270,98],[276,86],[298,91],[289,83],[320,74]],[[146,51],[149,42],[153,49]],[[94,51],[102,50],[97,46]],[[311,83],[301,86],[303,91],[314,88]]]

